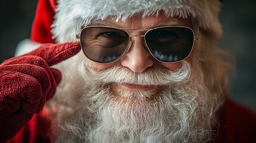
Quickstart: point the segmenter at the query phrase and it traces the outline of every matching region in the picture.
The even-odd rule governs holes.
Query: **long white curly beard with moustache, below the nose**
[[[83,94],[61,107],[55,142],[210,142],[218,95],[205,85],[198,64],[177,71],[152,67],[143,73],[111,67],[97,72],[79,63]],[[69,81],[67,78],[66,81]],[[114,90],[110,83],[164,85],[156,92]],[[75,86],[75,85],[74,85]],[[79,91],[79,93],[81,93]],[[52,104],[60,104],[52,101]],[[72,95],[70,95],[72,96]]]

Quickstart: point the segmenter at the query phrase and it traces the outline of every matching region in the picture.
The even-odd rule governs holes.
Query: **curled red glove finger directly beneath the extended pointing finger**
[[[47,100],[53,97],[56,87],[61,80],[61,73],[57,69],[52,69],[47,62],[34,55],[14,57],[1,64],[0,73],[3,70],[24,73],[38,79],[42,85],[42,90],[47,95]]]

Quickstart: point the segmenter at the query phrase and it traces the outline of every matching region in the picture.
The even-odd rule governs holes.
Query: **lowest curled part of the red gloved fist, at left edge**
[[[41,83],[27,74],[6,72],[13,74],[4,74],[2,77],[4,82],[0,83],[0,93],[3,97],[0,99],[1,110],[13,113],[22,106],[27,113],[41,111],[45,103]]]

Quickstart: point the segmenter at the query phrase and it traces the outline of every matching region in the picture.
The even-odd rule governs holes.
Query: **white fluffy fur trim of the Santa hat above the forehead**
[[[81,26],[87,26],[92,20],[104,20],[109,16],[125,20],[137,13],[146,16],[163,10],[170,16],[191,16],[198,20],[202,29],[219,37],[220,6],[219,0],[59,0],[53,33],[57,42],[75,41]]]

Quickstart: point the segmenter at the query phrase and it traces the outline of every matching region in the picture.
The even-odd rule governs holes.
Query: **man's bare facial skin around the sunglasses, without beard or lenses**
[[[123,29],[151,29],[153,27],[161,26],[186,26],[192,27],[192,20],[190,18],[178,18],[178,17],[166,17],[163,13],[159,13],[158,16],[151,15],[141,18],[135,15],[132,18],[128,18],[125,21],[116,21],[113,18],[101,21],[97,20],[90,24],[90,26],[114,26]],[[129,31],[129,35],[144,35],[145,31]],[[97,63],[95,61],[88,60],[90,66],[97,71],[103,71],[109,67],[125,67],[134,73],[143,73],[150,69],[150,67],[159,66],[163,69],[175,71],[182,66],[183,61],[176,63],[163,63],[156,60],[149,51],[145,48],[144,38],[131,37],[131,47],[129,50],[117,61],[113,63]],[[186,58],[190,62],[190,57]],[[149,91],[155,89],[155,86],[143,86],[127,83],[115,83],[112,85],[112,89],[124,89],[127,91]]]

